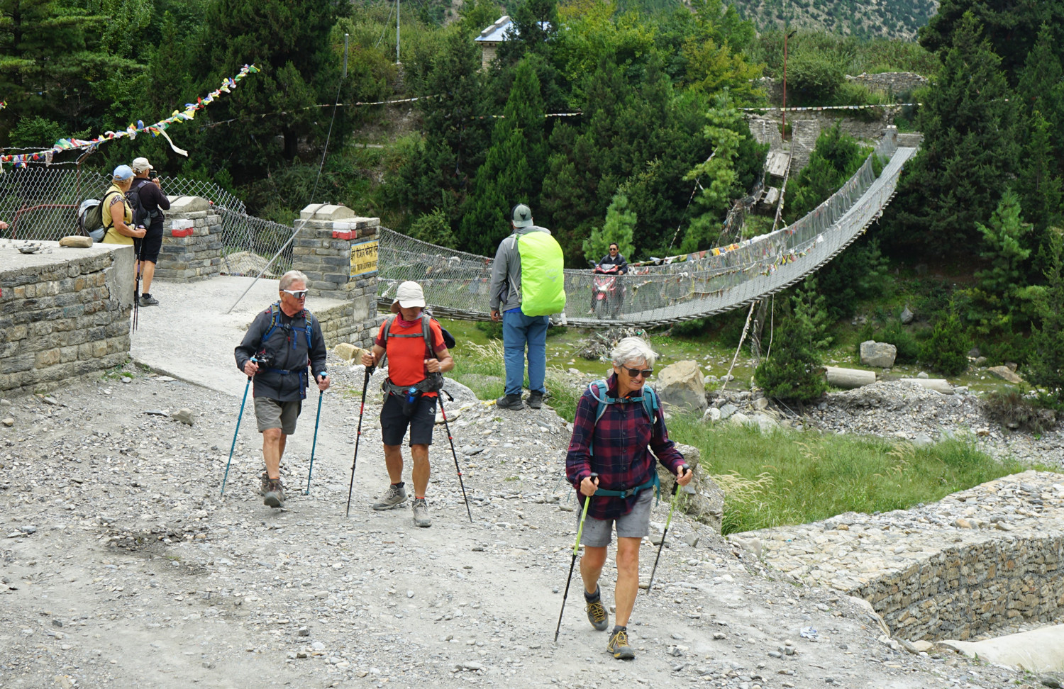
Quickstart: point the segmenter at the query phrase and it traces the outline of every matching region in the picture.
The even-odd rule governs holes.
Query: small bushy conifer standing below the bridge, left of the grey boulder
[[[816,280],[809,278],[791,299],[791,314],[781,324],[770,358],[754,370],[753,379],[767,397],[808,403],[828,389],[820,352],[825,337],[826,299],[816,296]]]

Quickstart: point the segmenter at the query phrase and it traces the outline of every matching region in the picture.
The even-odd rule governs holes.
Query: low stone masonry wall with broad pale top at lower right
[[[1003,476],[930,505],[742,534],[774,568],[868,601],[891,631],[965,640],[1064,612],[1064,475]]]

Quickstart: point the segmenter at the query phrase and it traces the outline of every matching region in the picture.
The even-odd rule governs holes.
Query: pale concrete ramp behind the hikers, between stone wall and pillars
[[[226,313],[254,278],[220,276],[195,283],[155,282],[159,306],[142,306],[131,354],[142,364],[176,379],[240,397],[247,377],[236,370],[233,350],[255,314],[278,300],[278,281],[260,280]],[[347,302],[311,297],[311,312]]]

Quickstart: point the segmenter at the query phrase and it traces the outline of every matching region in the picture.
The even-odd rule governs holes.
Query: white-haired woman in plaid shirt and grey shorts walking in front
[[[651,405],[643,403],[643,386],[653,373],[658,355],[638,337],[626,337],[611,356],[613,374],[606,380],[609,389],[588,386],[577,403],[565,473],[583,495],[596,495],[584,523],[580,575],[584,579],[587,619],[600,632],[610,626],[610,619],[602,605],[598,579],[616,523],[617,619],[606,651],[615,658],[631,659],[635,653],[628,645],[627,625],[639,587],[639,543],[650,531],[650,506],[658,480],[654,456],[672,473],[678,474],[686,465],[668,439],[661,413],[648,418]],[[597,473],[598,478],[592,480],[592,473]],[[678,475],[677,482],[686,486],[691,477],[688,468]]]

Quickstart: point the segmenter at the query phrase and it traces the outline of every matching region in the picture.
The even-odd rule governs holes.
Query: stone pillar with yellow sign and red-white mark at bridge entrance
[[[299,235],[292,249],[292,265],[306,274],[315,297],[338,299],[345,308],[345,324],[326,333],[329,342],[348,341],[366,347],[377,317],[377,230],[380,218],[361,218],[346,206],[311,204],[302,209],[294,226]],[[350,310],[347,310],[350,309]],[[315,312],[317,313],[317,312]],[[322,327],[325,315],[319,315]],[[348,320],[350,319],[350,320]]]

